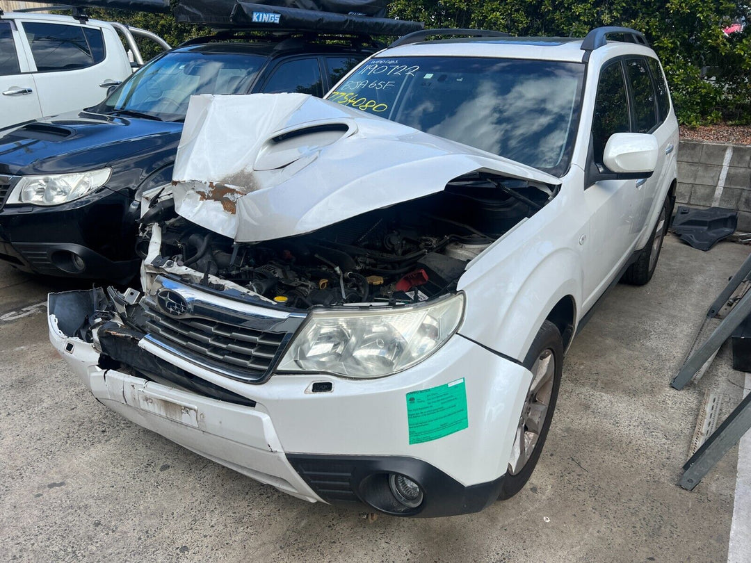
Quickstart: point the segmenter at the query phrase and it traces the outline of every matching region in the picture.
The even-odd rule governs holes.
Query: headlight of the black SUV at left
[[[92,193],[110,179],[111,168],[72,174],[22,176],[7,203],[59,205]]]

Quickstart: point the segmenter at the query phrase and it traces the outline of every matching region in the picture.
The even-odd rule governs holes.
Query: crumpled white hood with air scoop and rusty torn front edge
[[[236,242],[309,233],[442,191],[482,170],[535,168],[303,94],[191,99],[173,170],[179,215]]]

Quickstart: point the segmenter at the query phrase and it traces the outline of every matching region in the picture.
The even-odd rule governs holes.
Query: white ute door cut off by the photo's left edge
[[[41,117],[34,77],[14,20],[0,20],[0,128]]]

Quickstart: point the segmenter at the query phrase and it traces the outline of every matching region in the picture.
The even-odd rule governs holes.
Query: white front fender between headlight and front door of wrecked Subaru
[[[564,186],[470,264],[458,284],[466,294],[461,335],[521,361],[559,300],[571,296],[581,317],[583,197]]]

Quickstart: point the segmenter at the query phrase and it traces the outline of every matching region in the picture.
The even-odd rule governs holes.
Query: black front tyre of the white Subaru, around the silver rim
[[[511,498],[512,496],[517,494],[517,492],[519,492],[529,480],[529,477],[532,476],[532,471],[535,470],[535,465],[537,465],[538,459],[540,459],[542,447],[545,444],[545,438],[547,438],[547,431],[548,429],[550,429],[550,421],[553,420],[553,411],[555,411],[556,408],[558,388],[560,387],[561,374],[563,372],[563,342],[558,328],[550,321],[545,321],[540,327],[540,330],[537,331],[537,336],[535,336],[535,339],[532,341],[532,346],[529,348],[529,352],[527,352],[526,357],[524,358],[524,367],[526,367],[526,369],[532,370],[532,367],[535,366],[535,363],[538,361],[538,359],[542,361],[541,357],[546,353],[550,353],[550,356],[553,358],[553,361],[555,363],[552,370],[550,398],[548,399],[547,403],[547,411],[544,414],[544,421],[542,422],[542,425],[540,427],[537,441],[532,447],[532,453],[531,455],[529,455],[529,459],[526,459],[526,462],[523,463],[523,466],[521,466],[520,468],[517,467],[517,471],[515,471],[515,473],[512,472],[511,467],[511,461],[513,461],[513,459],[509,462],[508,470],[504,475],[501,483],[501,490],[498,496],[499,501],[505,500],[506,498]],[[532,384],[534,384],[534,373],[532,374],[532,376]],[[528,402],[526,402],[523,407],[522,417],[524,416],[530,405],[534,404],[534,402],[529,402],[529,393],[532,391],[532,384],[530,384],[530,389],[527,392]],[[524,426],[524,429],[527,429],[526,425]],[[514,442],[514,444],[516,444],[516,442]],[[514,450],[515,449],[516,448],[514,445]],[[513,457],[514,454],[512,454],[512,458]]]

